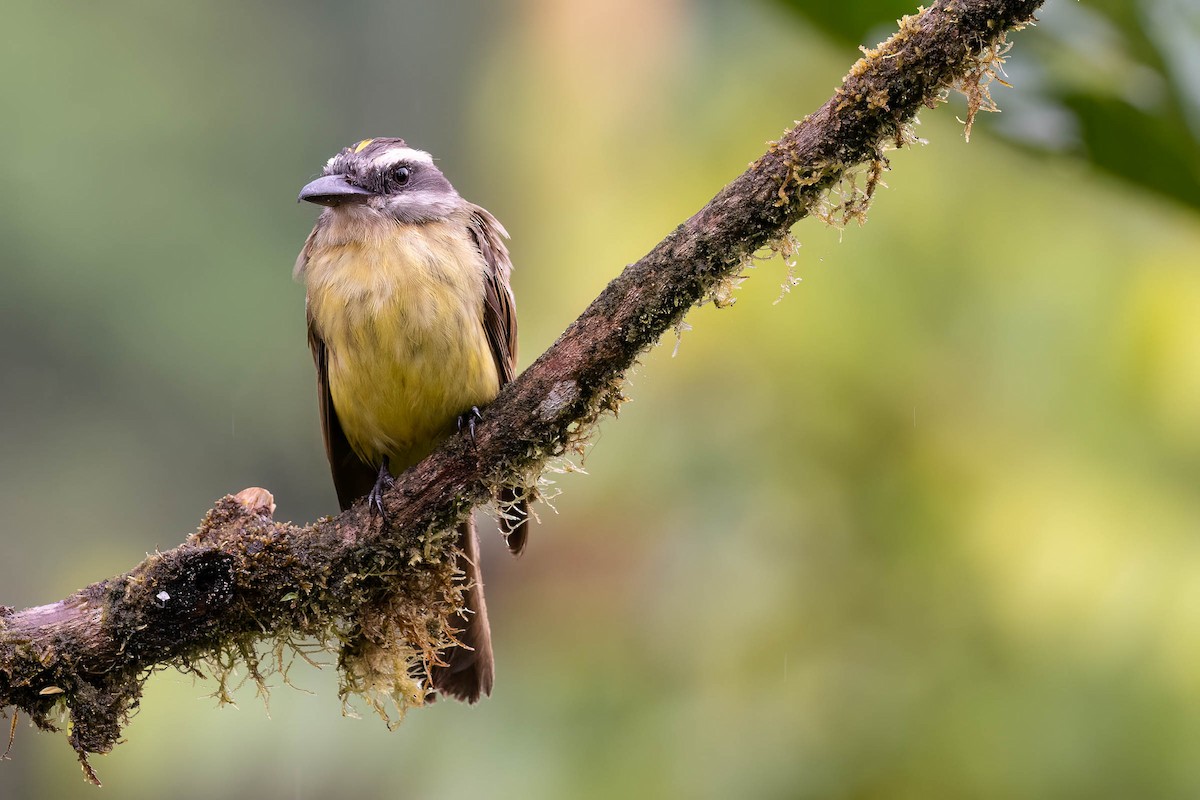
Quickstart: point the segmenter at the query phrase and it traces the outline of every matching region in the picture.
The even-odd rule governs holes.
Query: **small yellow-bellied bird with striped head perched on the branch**
[[[475,423],[517,360],[508,231],[464,200],[433,157],[403,139],[362,139],[340,150],[299,200],[324,206],[295,264],[306,290],[308,347],[325,453],[342,510],[383,494],[442,441]],[[514,555],[528,509],[502,493],[502,531]],[[463,612],[457,642],[428,670],[432,693],[467,703],[491,694],[491,627],[479,539],[457,529]]]

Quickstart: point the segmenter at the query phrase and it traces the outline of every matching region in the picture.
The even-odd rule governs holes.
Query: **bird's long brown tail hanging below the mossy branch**
[[[443,694],[474,703],[482,694],[492,693],[496,662],[492,657],[492,628],[487,624],[487,603],[484,601],[484,581],[479,571],[479,537],[475,523],[467,519],[458,525],[458,569],[466,576],[466,613],[454,620],[461,628],[455,636],[461,646],[442,651],[444,667],[434,667],[430,678],[433,688]]]

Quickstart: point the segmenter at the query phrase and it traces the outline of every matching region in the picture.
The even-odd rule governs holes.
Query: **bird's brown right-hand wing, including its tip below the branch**
[[[496,359],[496,372],[500,375],[500,386],[511,381],[517,371],[517,312],[512,297],[509,277],[512,263],[509,260],[509,248],[504,246],[508,231],[504,225],[486,209],[472,206],[470,229],[475,236],[475,246],[484,255],[487,272],[484,276],[484,331],[492,345],[492,357]],[[500,529],[505,534],[509,551],[520,555],[529,536],[529,509],[524,500],[517,500],[511,489],[500,492],[500,505],[515,519],[500,519]]]

